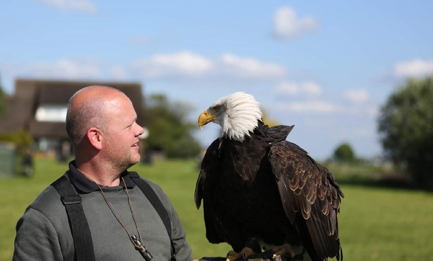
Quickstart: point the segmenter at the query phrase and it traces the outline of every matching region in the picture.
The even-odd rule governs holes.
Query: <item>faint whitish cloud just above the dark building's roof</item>
[[[95,78],[101,75],[101,69],[92,63],[81,64],[77,61],[64,59],[56,63],[41,62],[26,65],[17,74],[36,78]]]

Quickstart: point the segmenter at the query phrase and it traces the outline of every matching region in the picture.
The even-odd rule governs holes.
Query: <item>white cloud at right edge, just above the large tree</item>
[[[397,77],[423,77],[432,73],[433,61],[415,59],[394,66],[394,75]]]

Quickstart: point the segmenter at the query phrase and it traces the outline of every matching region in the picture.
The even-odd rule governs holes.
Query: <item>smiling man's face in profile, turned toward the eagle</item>
[[[144,129],[135,122],[137,114],[126,96],[109,102],[106,117],[108,124],[104,131],[103,150],[113,167],[124,171],[140,161],[137,143],[138,135]]]

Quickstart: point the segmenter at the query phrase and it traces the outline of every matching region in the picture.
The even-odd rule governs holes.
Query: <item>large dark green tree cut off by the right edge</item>
[[[386,156],[406,167],[418,185],[433,187],[433,75],[409,79],[380,110]]]

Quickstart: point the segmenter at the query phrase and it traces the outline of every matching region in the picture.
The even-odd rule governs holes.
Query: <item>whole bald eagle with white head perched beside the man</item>
[[[194,195],[197,209],[203,200],[208,241],[228,243],[229,260],[262,249],[342,260],[337,214],[344,195],[328,169],[286,141],[294,126],[264,125],[259,103],[243,92],[200,115],[200,128],[210,122],[222,134],[206,151]]]

